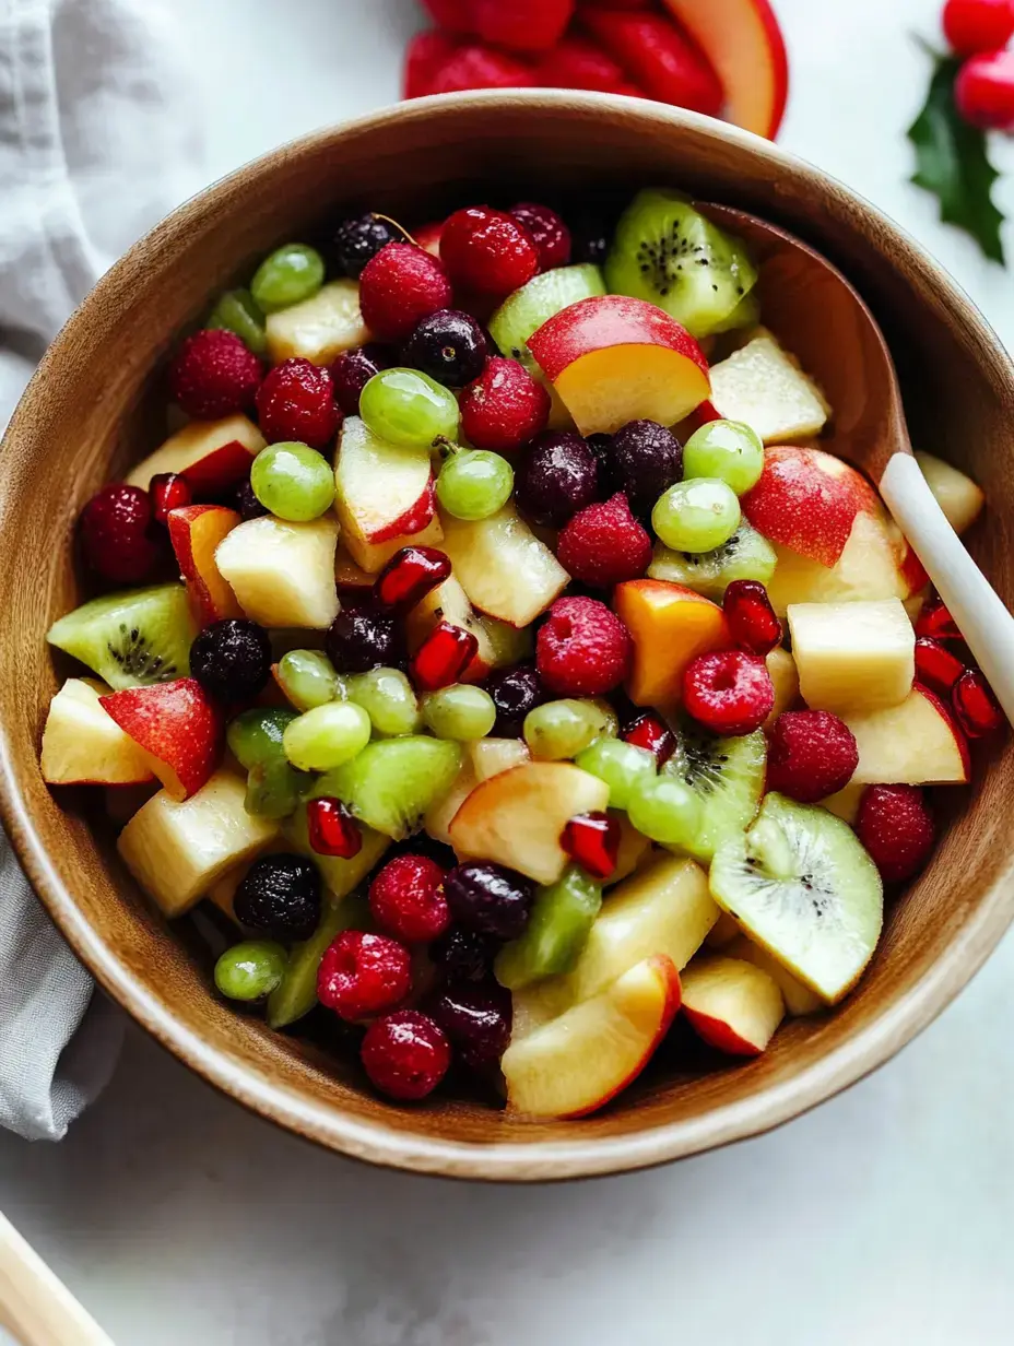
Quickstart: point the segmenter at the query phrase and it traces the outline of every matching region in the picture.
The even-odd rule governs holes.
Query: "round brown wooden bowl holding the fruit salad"
[[[496,176],[492,175],[492,171]],[[189,922],[170,927],[83,801],[50,793],[39,736],[58,677],[50,622],[81,598],[74,520],[164,428],[159,366],[209,296],[273,245],[366,206],[423,222],[448,205],[560,188],[671,183],[741,206],[823,249],[891,342],[917,446],[979,481],[974,549],[1014,599],[1011,366],[960,289],[883,215],[824,174],[731,127],[657,104],[570,93],[421,100],[287,145],[180,207],[96,287],[50,349],[4,440],[0,485],[0,790],[4,821],[53,918],[101,985],[240,1102],[373,1163],[465,1178],[619,1172],[795,1117],[885,1062],[983,962],[1014,910],[1014,750],[952,791],[929,870],[887,917],[877,958],[836,1012],[797,1019],[764,1058],[672,1054],[597,1117],[513,1120],[482,1100],[395,1108],[295,1036],[215,999]],[[805,353],[803,353],[805,355]]]

